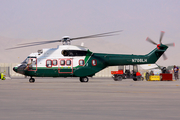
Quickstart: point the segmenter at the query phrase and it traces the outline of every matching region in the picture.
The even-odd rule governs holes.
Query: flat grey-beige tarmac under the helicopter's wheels
[[[0,120],[179,120],[180,81],[0,81]]]

